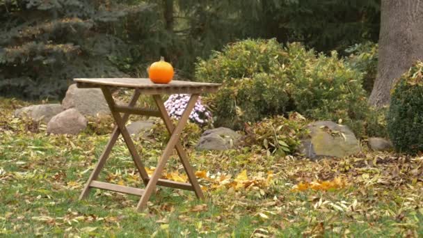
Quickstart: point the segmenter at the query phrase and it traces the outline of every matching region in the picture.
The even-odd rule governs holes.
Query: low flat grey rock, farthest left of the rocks
[[[40,104],[17,109],[15,111],[15,116],[19,118],[27,116],[32,120],[41,120],[47,124],[51,118],[56,116],[58,113],[61,113],[61,111],[63,111],[61,104]]]

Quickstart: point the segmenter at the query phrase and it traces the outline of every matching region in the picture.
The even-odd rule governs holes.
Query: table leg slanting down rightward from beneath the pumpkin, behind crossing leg
[[[170,120],[170,116],[168,115],[168,112],[166,111],[166,107],[163,104],[163,100],[161,100],[161,96],[153,95],[153,98],[157,104],[157,107],[159,108],[159,111],[161,112],[163,122],[166,125],[166,129],[168,129],[169,134],[172,134],[173,130],[175,129],[175,126],[173,125],[172,120]],[[193,168],[189,164],[188,155],[186,154],[184,148],[182,147],[179,141],[177,141],[175,148],[176,148],[177,154],[179,155],[179,159],[181,159],[182,166],[184,166],[186,175],[188,175],[189,182],[193,186],[195,195],[197,196],[197,198],[204,199],[204,195],[202,194],[200,184],[198,184],[198,180],[197,180],[197,177],[195,177]]]

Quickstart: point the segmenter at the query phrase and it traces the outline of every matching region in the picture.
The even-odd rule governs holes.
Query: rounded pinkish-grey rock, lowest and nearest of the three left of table
[[[78,134],[87,127],[87,120],[77,109],[67,109],[51,118],[47,132],[52,134]]]

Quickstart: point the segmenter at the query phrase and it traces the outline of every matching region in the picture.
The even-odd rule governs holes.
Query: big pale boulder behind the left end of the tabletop
[[[77,88],[77,84],[72,84],[67,88],[62,106],[64,109],[77,109],[83,116],[97,116],[97,113],[110,113],[109,106],[104,99],[101,89]]]

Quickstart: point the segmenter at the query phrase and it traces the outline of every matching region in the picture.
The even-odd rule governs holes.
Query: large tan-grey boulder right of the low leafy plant
[[[351,130],[330,121],[318,121],[308,126],[310,135],[304,138],[300,151],[310,159],[346,157],[361,151],[360,143]]]

